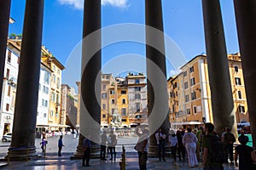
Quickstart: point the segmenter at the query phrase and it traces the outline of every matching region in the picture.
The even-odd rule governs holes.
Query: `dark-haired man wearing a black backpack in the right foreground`
[[[217,143],[221,144],[221,141],[218,141],[218,137],[213,134],[214,125],[211,122],[205,123],[205,132],[207,135],[203,137],[202,148],[203,148],[203,167],[204,170],[223,170],[223,162],[217,160],[224,156],[214,156],[216,152],[215,149],[220,149],[221,147],[216,147]],[[217,141],[216,141],[217,140]],[[216,142],[213,142],[216,141]]]

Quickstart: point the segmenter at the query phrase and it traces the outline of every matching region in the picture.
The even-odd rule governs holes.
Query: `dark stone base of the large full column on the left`
[[[9,161],[28,161],[38,157],[35,146],[9,147],[8,155],[5,159]]]

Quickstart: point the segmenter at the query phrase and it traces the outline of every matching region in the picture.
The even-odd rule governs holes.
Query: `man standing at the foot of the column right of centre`
[[[162,129],[158,129],[157,133],[155,133],[155,139],[156,143],[158,145],[158,157],[159,161],[161,161],[161,150],[162,150],[162,158],[163,161],[166,161],[165,159],[165,140],[166,140],[166,134],[162,133]]]

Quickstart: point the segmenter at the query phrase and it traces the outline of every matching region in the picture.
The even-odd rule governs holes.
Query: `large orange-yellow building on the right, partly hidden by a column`
[[[236,122],[248,122],[240,54],[229,54],[228,59]],[[167,82],[170,122],[212,122],[207,56],[195,56],[181,67],[181,71],[176,77],[169,78]]]

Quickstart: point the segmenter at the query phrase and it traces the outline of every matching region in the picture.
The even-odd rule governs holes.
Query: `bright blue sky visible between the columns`
[[[11,2],[10,16],[15,23],[9,26],[9,33],[21,34],[26,1]],[[201,0],[162,0],[162,4],[164,31],[177,44],[185,59],[205,54]],[[236,53],[238,41],[233,1],[221,0],[221,8],[227,53]],[[144,12],[144,0],[102,0],[102,27],[124,23],[144,24]],[[43,44],[65,66],[73,48],[81,40],[82,26],[83,0],[44,1]],[[145,47],[136,42],[112,44],[102,50],[102,65],[124,54],[145,56]],[[172,76],[172,70],[172,66],[167,65],[168,77]]]

